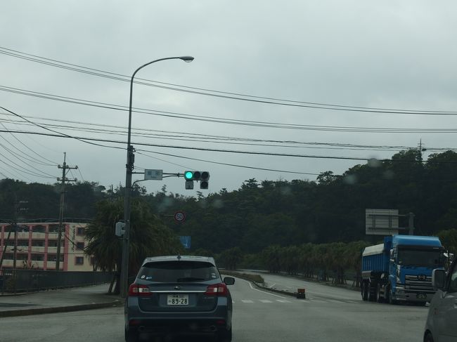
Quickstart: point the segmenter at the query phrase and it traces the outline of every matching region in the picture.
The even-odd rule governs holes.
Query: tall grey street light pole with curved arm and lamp
[[[129,235],[130,235],[130,197],[131,197],[131,174],[134,171],[134,147],[131,145],[131,101],[132,93],[134,89],[134,78],[137,72],[147,65],[160,62],[161,60],[184,60],[184,62],[192,62],[193,57],[181,56],[181,57],[167,57],[153,60],[152,62],[141,65],[135,70],[134,74],[131,75],[130,79],[130,100],[129,100],[129,130],[127,133],[127,164],[125,174],[125,196],[124,196],[124,238],[122,239],[122,263],[121,263],[121,274],[120,274],[120,292],[122,298],[127,297],[127,287],[129,279]]]

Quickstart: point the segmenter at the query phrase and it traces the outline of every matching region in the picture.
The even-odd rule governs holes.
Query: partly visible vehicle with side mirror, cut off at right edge
[[[430,302],[424,342],[455,342],[457,341],[457,262],[453,262],[447,275],[444,270],[434,270],[432,283],[437,293]]]

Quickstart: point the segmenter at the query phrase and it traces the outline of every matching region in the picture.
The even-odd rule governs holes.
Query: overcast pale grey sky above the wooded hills
[[[420,141],[425,158],[457,148],[456,10],[420,0],[4,1],[0,106],[22,118],[0,109],[0,178],[54,183],[66,152],[79,166],[70,178],[124,185],[129,77],[181,55],[195,60],[136,75],[137,172],[210,171],[207,194],[249,178],[341,174]],[[195,195],[183,178],[140,184]]]

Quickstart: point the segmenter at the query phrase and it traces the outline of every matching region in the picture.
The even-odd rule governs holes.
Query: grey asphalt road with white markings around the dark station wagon
[[[231,287],[233,341],[421,341],[427,308],[367,303],[355,291],[312,285],[302,300],[237,279]],[[0,319],[0,341],[121,342],[123,324],[123,308],[8,317]]]

